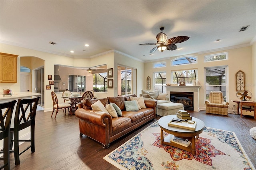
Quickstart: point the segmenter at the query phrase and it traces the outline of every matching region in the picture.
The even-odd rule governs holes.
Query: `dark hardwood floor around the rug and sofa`
[[[190,114],[204,121],[206,127],[235,132],[254,167],[256,167],[256,140],[249,134],[250,128],[256,126],[256,119],[241,118],[240,115],[236,114],[229,114],[228,117],[212,115],[206,114],[205,111],[190,112]],[[102,158],[159,118],[160,116],[110,143],[110,147],[104,149],[102,144],[84,135],[79,136],[78,119],[74,115],[66,114],[65,116],[60,110],[54,119],[51,118],[51,112],[37,111],[36,152],[31,153],[31,150],[27,150],[20,155],[20,165],[18,166],[15,166],[14,154],[11,153],[10,166],[13,170],[114,170],[117,168]],[[27,144],[21,144],[20,148],[26,146]]]

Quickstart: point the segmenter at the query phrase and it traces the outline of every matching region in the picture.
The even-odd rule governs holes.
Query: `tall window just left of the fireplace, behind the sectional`
[[[154,73],[154,89],[162,93],[166,93],[166,72]]]

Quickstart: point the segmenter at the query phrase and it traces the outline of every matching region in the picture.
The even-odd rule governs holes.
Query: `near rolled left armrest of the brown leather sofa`
[[[83,121],[102,127],[106,127],[106,124],[108,124],[108,127],[112,127],[112,117],[109,113],[78,108],[75,114],[76,117]]]

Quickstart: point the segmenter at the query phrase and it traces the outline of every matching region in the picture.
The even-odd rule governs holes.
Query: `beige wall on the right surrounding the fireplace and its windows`
[[[228,52],[228,60],[204,62],[204,55],[223,53],[223,52]],[[154,72],[166,71],[166,83],[172,83],[171,75],[170,75],[171,71],[186,70],[186,69],[198,69],[198,81],[200,82],[200,84],[202,86],[200,88],[199,106],[200,106],[200,109],[205,109],[205,104],[204,104],[204,101],[205,101],[205,97],[204,97],[205,96],[204,67],[228,65],[228,77],[227,77],[228,78],[228,91],[227,91],[227,94],[228,94],[228,101],[230,102],[229,110],[232,111],[232,107],[235,104],[231,100],[238,99],[236,97],[236,78],[235,78],[235,74],[237,71],[239,71],[239,70],[244,71],[244,73],[246,75],[246,87],[245,88],[246,88],[246,90],[251,91],[252,94],[255,94],[255,84],[254,84],[254,87],[252,86],[252,83],[253,83],[252,67],[255,67],[255,62],[254,62],[254,66],[251,64],[252,63],[252,46],[241,47],[241,48],[236,48],[236,49],[229,49],[229,50],[224,50],[224,51],[216,51],[216,52],[204,53],[204,54],[193,53],[190,55],[198,57],[198,63],[171,67],[170,65],[171,65],[172,59],[175,59],[176,57],[180,57],[180,56],[170,57],[169,59],[160,60],[160,61],[166,61],[167,66],[164,68],[156,68],[156,69],[152,68],[153,63],[160,62],[160,61],[145,63],[144,72],[146,74],[144,76],[144,79],[146,80],[147,76],[153,77]],[[152,83],[153,83],[153,78],[151,78],[151,84]],[[143,89],[146,89],[146,83],[144,83]]]

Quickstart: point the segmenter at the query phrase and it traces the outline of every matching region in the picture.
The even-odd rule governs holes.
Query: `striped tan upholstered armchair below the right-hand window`
[[[206,113],[228,115],[228,102],[223,99],[221,91],[211,91],[209,99],[205,101]]]

